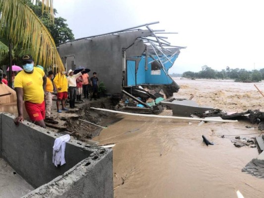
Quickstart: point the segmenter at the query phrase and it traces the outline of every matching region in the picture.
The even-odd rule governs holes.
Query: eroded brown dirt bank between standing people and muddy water
[[[90,109],[90,107],[113,109],[114,104],[110,98],[100,98],[96,101],[83,99],[83,102],[75,103],[75,105],[77,108],[70,109],[66,104],[69,110],[58,113],[56,101],[53,101],[51,116],[58,121],[58,124],[46,123],[47,129],[61,134],[70,134],[80,141],[91,143],[90,139],[98,136],[103,127],[119,120],[113,116],[113,113]]]

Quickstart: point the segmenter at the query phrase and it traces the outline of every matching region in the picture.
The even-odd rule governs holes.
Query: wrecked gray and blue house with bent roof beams
[[[153,30],[148,23],[133,28],[102,35],[76,39],[59,45],[58,51],[65,70],[84,66],[97,72],[107,93],[120,93],[151,108],[149,98],[157,99],[155,93],[163,91],[166,98],[178,92],[179,86],[168,74],[180,49],[172,46],[164,35],[176,34]],[[145,90],[144,90],[145,89]],[[146,89],[152,91],[146,92]],[[140,97],[141,100],[138,100]]]

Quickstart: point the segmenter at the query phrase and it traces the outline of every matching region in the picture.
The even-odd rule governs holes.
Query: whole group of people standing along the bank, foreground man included
[[[53,91],[57,93],[57,112],[69,110],[66,108],[66,99],[69,98],[70,108],[75,108],[75,99],[81,101],[82,92],[84,98],[88,99],[89,87],[93,92],[90,100],[97,99],[99,79],[96,72],[89,79],[85,69],[77,74],[73,70],[58,72],[55,77],[53,71],[49,71],[48,77],[42,66],[34,67],[34,60],[31,55],[24,55],[22,58],[23,70],[14,79],[14,89],[17,95],[18,116],[14,122],[16,125],[24,120],[23,100],[30,119],[37,125],[46,128],[44,119],[52,119],[51,108]],[[68,97],[69,93],[69,97]],[[62,108],[60,109],[60,104]]]

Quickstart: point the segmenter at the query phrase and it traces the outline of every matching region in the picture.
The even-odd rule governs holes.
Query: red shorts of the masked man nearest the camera
[[[25,101],[25,107],[30,119],[34,121],[40,121],[45,118],[45,102],[40,104]]]

